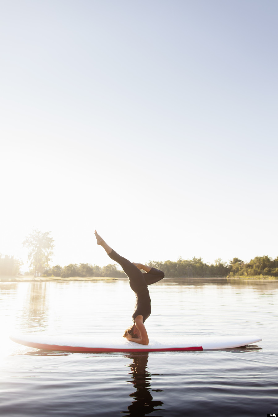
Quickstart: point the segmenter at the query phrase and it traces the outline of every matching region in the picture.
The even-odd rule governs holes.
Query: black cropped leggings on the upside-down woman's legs
[[[147,274],[142,274],[137,266],[133,265],[128,259],[123,258],[112,249],[112,252],[108,254],[113,261],[118,262],[123,268],[125,274],[129,279],[130,288],[136,293],[142,292],[148,285],[154,284],[164,278],[164,273],[159,269],[152,268]]]

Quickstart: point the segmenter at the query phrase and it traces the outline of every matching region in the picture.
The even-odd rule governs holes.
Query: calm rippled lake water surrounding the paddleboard
[[[203,352],[90,354],[15,344],[8,334],[123,334],[134,294],[115,281],[0,284],[0,415],[278,414],[278,281],[163,279],[149,287],[150,339],[257,334],[257,345]]]

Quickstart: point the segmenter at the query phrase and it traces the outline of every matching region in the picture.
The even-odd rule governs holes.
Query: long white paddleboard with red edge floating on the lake
[[[151,339],[143,345],[120,338],[86,336],[49,336],[47,334],[13,334],[13,342],[37,349],[62,352],[175,352],[184,350],[230,349],[260,342],[258,336],[184,336]]]

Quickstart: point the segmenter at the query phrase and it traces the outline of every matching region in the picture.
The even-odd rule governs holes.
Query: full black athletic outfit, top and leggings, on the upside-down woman
[[[112,249],[112,252],[108,254],[113,261],[118,262],[125,271],[129,279],[130,288],[136,294],[135,310],[132,316],[133,322],[135,317],[142,315],[143,322],[148,319],[151,313],[150,308],[150,294],[148,285],[154,284],[164,278],[164,272],[159,269],[152,268],[150,272],[142,274],[137,266],[133,265],[128,259],[123,258]]]

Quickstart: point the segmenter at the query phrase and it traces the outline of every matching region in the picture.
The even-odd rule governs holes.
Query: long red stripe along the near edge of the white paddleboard
[[[184,350],[203,350],[202,346],[194,346],[194,347],[173,347],[173,348],[146,348],[146,349],[108,349],[102,347],[77,347],[77,346],[61,346],[56,344],[44,344],[44,343],[33,343],[33,342],[25,342],[20,339],[12,339],[14,342],[23,344],[28,347],[35,347],[36,349],[46,349],[46,350],[59,350],[63,352],[178,352]]]

